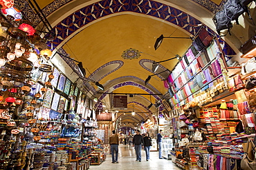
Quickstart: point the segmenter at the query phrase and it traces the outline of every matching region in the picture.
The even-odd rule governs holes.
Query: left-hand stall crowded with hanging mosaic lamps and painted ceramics
[[[80,148],[77,158],[88,162],[89,145],[69,140],[79,138],[83,123],[94,120],[64,110],[69,89],[62,96],[53,90],[55,67],[47,39],[22,19],[13,0],[0,1],[0,8],[0,169],[68,169],[68,154],[75,148]],[[53,96],[62,103],[53,103],[55,110]],[[66,145],[73,148],[70,153]]]

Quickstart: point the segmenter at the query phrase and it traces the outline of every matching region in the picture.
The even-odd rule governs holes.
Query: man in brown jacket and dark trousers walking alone
[[[118,163],[118,144],[119,144],[119,138],[116,134],[116,131],[112,131],[112,135],[109,137],[109,145],[112,155],[112,163]],[[114,153],[116,152],[116,158],[114,156]]]

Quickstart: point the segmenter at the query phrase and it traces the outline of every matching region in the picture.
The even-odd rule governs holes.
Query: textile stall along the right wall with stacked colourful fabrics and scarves
[[[246,169],[248,162],[254,164],[249,146],[256,134],[255,45],[249,48],[250,55],[241,56],[249,58],[246,63],[227,67],[219,39],[201,51],[193,44],[165,81],[173,109],[164,115],[170,118],[173,147],[165,146],[166,140],[163,148],[178,167]]]

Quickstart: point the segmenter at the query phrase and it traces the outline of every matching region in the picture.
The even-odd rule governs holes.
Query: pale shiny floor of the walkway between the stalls
[[[165,160],[158,158],[158,151],[151,151],[150,152],[150,160],[146,161],[145,151],[141,151],[142,160],[141,162],[136,161],[136,154],[134,147],[129,147],[128,145],[120,145],[119,146],[119,153],[118,153],[118,162],[112,164],[111,163],[111,155],[107,155],[107,159],[102,162],[100,165],[91,165],[91,170],[178,170],[179,167],[176,167],[175,164],[172,163],[172,160]]]

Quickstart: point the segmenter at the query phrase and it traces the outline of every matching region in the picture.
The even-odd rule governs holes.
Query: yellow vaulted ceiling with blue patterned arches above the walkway
[[[152,76],[148,85],[144,81],[152,72],[153,61],[170,59],[176,54],[183,56],[190,47],[190,39],[164,39],[158,50],[154,50],[156,39],[164,36],[190,37],[204,24],[209,32],[215,34],[212,17],[227,0],[36,0],[46,16],[55,39],[48,45],[55,52],[63,49],[71,58],[82,61],[86,77],[104,85],[104,92],[125,94],[167,94],[163,79],[167,74]],[[28,1],[19,0],[24,15],[38,28],[43,24]],[[255,12],[253,11],[255,16]],[[232,28],[232,36],[223,38],[223,47],[227,55],[239,54],[239,47],[251,36],[252,27],[244,22]],[[255,32],[254,32],[255,34]],[[138,50],[138,59],[123,59],[122,53],[128,49]],[[57,57],[57,55],[55,56]],[[60,60],[61,58],[57,58]],[[178,60],[161,63],[163,70],[172,70]],[[70,63],[68,63],[70,64]],[[62,62],[59,62],[62,65]],[[70,64],[71,67],[72,64]],[[70,76],[70,75],[69,75]],[[71,80],[75,81],[75,78]],[[94,83],[86,83],[94,96],[107,103],[111,109],[110,94],[103,92]],[[147,110],[147,106],[163,95],[128,96],[128,110],[145,112],[131,118],[120,111],[122,120],[140,122],[156,108]],[[95,107],[100,103],[96,103]],[[161,106],[163,109],[163,106]],[[138,119],[138,120],[137,120]]]

